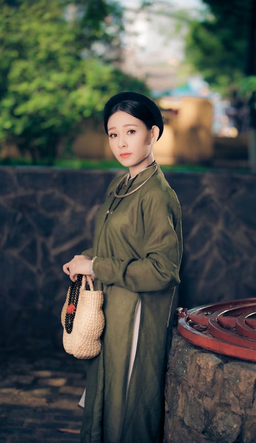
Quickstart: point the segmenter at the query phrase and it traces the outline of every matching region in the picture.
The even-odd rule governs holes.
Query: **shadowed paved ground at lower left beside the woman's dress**
[[[0,443],[78,443],[86,361],[41,342],[0,355]]]

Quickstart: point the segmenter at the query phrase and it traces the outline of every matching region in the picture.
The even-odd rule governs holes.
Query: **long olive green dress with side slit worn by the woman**
[[[129,191],[145,181],[153,168],[141,171]],[[119,180],[112,180],[97,214],[93,248],[83,251],[97,256],[95,289],[103,289],[105,327],[101,353],[88,360],[81,442],[160,443],[167,325],[180,282],[180,204],[158,167],[104,221]],[[113,207],[116,203],[117,199]],[[137,350],[127,387],[139,300]]]

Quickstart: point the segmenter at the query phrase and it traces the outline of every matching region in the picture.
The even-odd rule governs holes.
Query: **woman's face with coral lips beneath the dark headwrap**
[[[147,129],[144,122],[121,110],[108,121],[111,150],[121,165],[136,175],[153,162],[152,144],[157,140],[157,126]]]

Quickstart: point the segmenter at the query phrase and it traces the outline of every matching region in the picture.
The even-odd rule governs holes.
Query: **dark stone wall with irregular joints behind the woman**
[[[3,343],[51,337],[69,279],[62,264],[91,246],[94,217],[120,171],[0,168]],[[179,305],[255,296],[256,176],[166,172],[179,196],[184,256]]]

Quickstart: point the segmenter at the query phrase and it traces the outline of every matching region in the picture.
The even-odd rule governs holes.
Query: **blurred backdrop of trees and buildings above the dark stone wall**
[[[0,0],[2,165],[113,167],[101,113],[151,96],[165,168],[256,170],[255,0]]]

